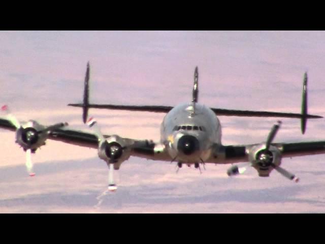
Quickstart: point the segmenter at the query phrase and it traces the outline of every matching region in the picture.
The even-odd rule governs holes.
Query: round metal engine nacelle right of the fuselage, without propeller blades
[[[276,146],[270,145],[269,149],[266,149],[266,144],[259,144],[249,149],[248,159],[251,166],[257,170],[258,176],[268,177],[274,169],[273,166],[281,164],[281,152]]]

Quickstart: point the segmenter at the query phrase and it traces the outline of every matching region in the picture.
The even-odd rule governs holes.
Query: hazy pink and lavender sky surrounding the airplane
[[[308,72],[309,113],[324,116],[325,32],[305,31],[22,31],[0,32],[1,104],[20,119],[67,121],[87,130],[81,109],[86,64],[90,101],[167,105],[190,101],[199,67],[199,102],[229,109],[300,112]],[[105,134],[159,140],[164,114],[90,110]],[[266,140],[275,118],[219,117],[222,143]],[[323,119],[282,119],[274,142],[323,140]],[[118,191],[105,194],[108,169],[95,149],[47,140],[25,171],[14,133],[0,129],[0,212],[324,212],[323,155],[282,160],[299,184],[254,169],[229,178],[226,165],[176,173],[175,164],[131,157]],[[104,194],[103,194],[104,193]]]

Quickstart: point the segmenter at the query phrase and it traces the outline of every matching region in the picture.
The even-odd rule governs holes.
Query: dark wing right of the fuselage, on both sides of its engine
[[[225,164],[248,162],[248,155],[246,151],[250,150],[253,146],[250,145],[228,145],[218,146],[214,148],[214,155],[221,155],[222,161]],[[293,143],[272,143],[280,152],[282,158],[291,158],[306,155],[325,154],[325,141],[306,141],[306,142],[293,142]],[[220,159],[212,157],[206,163],[222,163]]]

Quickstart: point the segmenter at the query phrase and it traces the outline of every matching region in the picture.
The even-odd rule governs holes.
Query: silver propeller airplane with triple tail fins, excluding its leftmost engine
[[[301,120],[302,134],[306,131],[307,119],[322,118],[307,112],[307,73],[303,78],[301,113],[284,113],[271,111],[250,111],[210,108],[199,103],[199,72],[194,70],[192,99],[190,102],[171,106],[137,106],[89,103],[90,65],[87,63],[84,80],[83,102],[68,104],[82,108],[83,123],[93,133],[55,128],[50,130],[48,139],[70,143],[73,145],[98,149],[98,156],[109,167],[109,191],[116,191],[113,172],[121,164],[132,157],[140,157],[156,161],[176,162],[178,169],[183,165],[199,168],[205,164],[232,164],[226,172],[229,176],[242,174],[248,167],[253,167],[258,176],[268,177],[273,169],[295,182],[299,178],[282,168],[282,158],[315,155],[325,153],[325,141],[305,141],[298,143],[273,143],[280,129],[281,121],[271,128],[265,142],[247,145],[223,145],[221,143],[221,124],[218,116],[249,117],[285,117]],[[93,117],[88,118],[90,108],[147,111],[166,113],[160,126],[160,141],[122,138],[118,135],[104,135]],[[0,128],[13,129],[12,120],[0,118]],[[239,168],[236,163],[247,162]]]

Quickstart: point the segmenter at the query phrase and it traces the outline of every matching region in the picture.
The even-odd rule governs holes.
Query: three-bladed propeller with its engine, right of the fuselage
[[[280,126],[281,126],[281,121],[277,121],[277,124],[275,124],[272,127],[265,144],[257,145],[251,148],[249,154],[250,162],[246,167],[239,168],[237,165],[231,166],[228,169],[227,174],[229,176],[242,174],[246,171],[248,166],[252,166],[258,171],[259,176],[269,176],[269,173],[271,171],[269,167],[271,166],[284,177],[290,180],[294,180],[295,182],[298,182],[299,178],[295,174],[290,173],[289,171],[279,166],[281,163],[280,151],[277,147],[271,145],[277,132],[280,129]],[[275,164],[275,162],[278,163]]]

